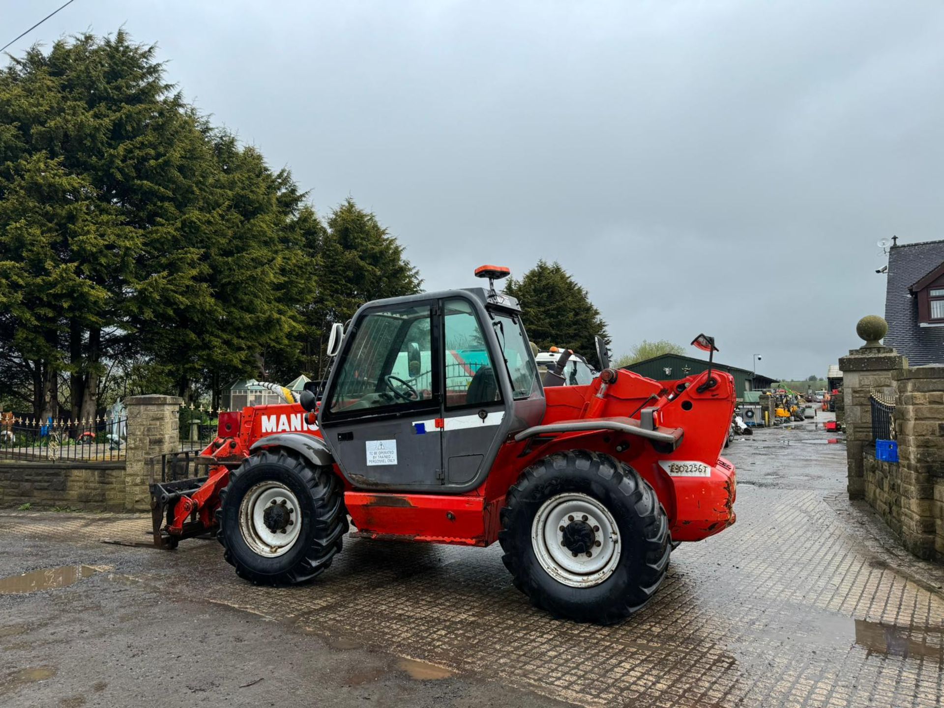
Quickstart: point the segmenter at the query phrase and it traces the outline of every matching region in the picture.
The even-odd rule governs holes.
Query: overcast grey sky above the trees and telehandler
[[[3,0],[0,40],[60,4]],[[617,354],[825,375],[884,310],[876,242],[944,238],[940,2],[76,0],[8,52],[123,24],[428,288],[561,261]]]

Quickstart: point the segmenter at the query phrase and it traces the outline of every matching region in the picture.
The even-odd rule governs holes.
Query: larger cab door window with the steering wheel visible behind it
[[[329,413],[422,408],[434,402],[430,305],[368,312],[340,362]]]

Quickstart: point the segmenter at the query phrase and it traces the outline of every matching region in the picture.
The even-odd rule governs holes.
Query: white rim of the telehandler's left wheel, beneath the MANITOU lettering
[[[275,530],[266,525],[268,520]],[[280,509],[275,509],[279,507]],[[243,497],[239,507],[239,528],[245,545],[265,558],[276,558],[295,546],[301,531],[301,511],[298,499],[288,487],[278,481],[261,481]]]

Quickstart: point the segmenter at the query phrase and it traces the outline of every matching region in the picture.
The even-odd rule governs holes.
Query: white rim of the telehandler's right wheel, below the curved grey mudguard
[[[587,528],[592,536],[587,535]],[[585,548],[585,543],[574,544],[575,533],[584,540],[592,538],[590,555],[574,550]],[[531,547],[548,575],[570,587],[598,585],[619,565],[616,520],[603,504],[585,494],[560,494],[545,501],[534,515]]]

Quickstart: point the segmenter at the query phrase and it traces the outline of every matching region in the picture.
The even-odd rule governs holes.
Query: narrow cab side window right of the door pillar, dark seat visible
[[[446,407],[480,406],[501,399],[481,323],[468,300],[443,303]]]

